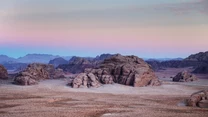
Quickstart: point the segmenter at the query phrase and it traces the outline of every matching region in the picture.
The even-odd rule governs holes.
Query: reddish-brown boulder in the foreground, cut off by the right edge
[[[187,100],[187,106],[208,108],[208,90],[193,93]]]

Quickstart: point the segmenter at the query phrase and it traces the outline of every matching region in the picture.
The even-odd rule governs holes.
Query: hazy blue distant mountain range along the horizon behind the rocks
[[[22,69],[29,63],[50,63],[55,67],[59,66],[65,71],[76,71],[84,69],[89,65],[96,67],[97,64],[104,59],[111,57],[112,54],[101,54],[97,57],[71,57],[58,56],[50,54],[27,54],[20,58],[12,58],[6,55],[0,55],[0,64],[4,65],[8,70]],[[192,54],[189,57],[183,58],[143,58],[154,70],[163,68],[183,68],[192,66],[195,68],[194,73],[208,73],[208,51]],[[49,62],[50,61],[50,62]],[[77,64],[77,62],[79,64]],[[73,68],[73,69],[72,69]]]

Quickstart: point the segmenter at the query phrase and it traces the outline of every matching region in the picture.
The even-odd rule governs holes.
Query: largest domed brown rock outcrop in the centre
[[[117,54],[105,59],[97,69],[85,69],[85,73],[94,74],[102,84],[115,82],[134,87],[161,85],[150,66],[136,56]]]

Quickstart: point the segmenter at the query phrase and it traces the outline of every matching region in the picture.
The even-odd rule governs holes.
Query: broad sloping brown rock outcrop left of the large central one
[[[14,83],[18,85],[34,85],[40,80],[49,78],[59,78],[61,72],[57,71],[53,65],[33,63],[20,72],[14,79]]]

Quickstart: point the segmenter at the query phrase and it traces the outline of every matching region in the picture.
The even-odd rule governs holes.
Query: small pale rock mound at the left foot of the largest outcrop
[[[71,83],[69,83],[73,88],[89,88],[89,87],[99,87],[101,83],[98,81],[98,77],[96,77],[92,73],[80,73],[76,76]]]

